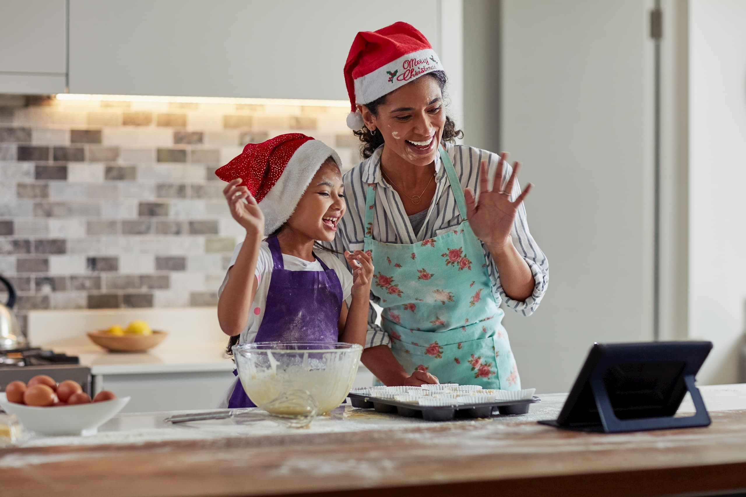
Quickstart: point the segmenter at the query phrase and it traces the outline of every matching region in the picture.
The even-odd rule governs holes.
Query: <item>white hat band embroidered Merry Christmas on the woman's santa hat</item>
[[[438,54],[432,48],[414,51],[357,77],[354,80],[355,100],[358,104],[368,104],[428,72],[442,70]]]

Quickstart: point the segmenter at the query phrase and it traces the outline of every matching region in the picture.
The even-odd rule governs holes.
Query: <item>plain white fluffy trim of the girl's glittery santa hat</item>
[[[259,208],[264,213],[265,235],[275,232],[275,229],[290,218],[316,171],[319,171],[329,157],[342,171],[342,160],[339,159],[339,155],[319,140],[305,142],[292,154],[278,182],[259,203]]]

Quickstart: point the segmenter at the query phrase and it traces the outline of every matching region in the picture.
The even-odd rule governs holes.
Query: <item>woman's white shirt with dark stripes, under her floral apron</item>
[[[479,197],[478,184],[480,174],[480,162],[486,160],[489,166],[489,178],[495,177],[498,165],[498,155],[496,153],[483,151],[478,148],[467,147],[466,145],[443,144],[451,162],[454,164],[456,174],[460,179],[463,189],[471,188],[477,192]],[[404,204],[398,193],[389,183],[383,180],[380,173],[380,154],[383,147],[378,148],[369,159],[363,160],[357,166],[345,173],[343,182],[345,184],[345,197],[347,200],[347,212],[337,225],[336,238],[333,242],[325,243],[340,253],[345,250],[363,250],[365,228],[365,211],[366,211],[366,190],[369,183],[377,184],[375,190],[375,219],[373,222],[373,238],[378,241],[390,244],[414,244],[417,241],[423,241],[427,238],[441,235],[443,232],[453,229],[461,223],[461,215],[456,205],[454,194],[449,188],[448,174],[445,174],[444,168],[441,167],[439,155],[436,157],[436,191],[430,209],[427,212],[419,233],[413,232],[410,221],[407,218],[407,212],[404,210]],[[507,183],[513,168],[507,165],[504,168],[502,185]],[[521,187],[515,182],[510,199],[515,200],[521,194]],[[518,209],[518,215],[513,222],[513,229],[510,230],[510,236],[513,238],[513,245],[518,249],[518,253],[523,256],[527,262],[534,279],[533,294],[524,301],[513,300],[505,294],[500,283],[500,275],[495,261],[487,247],[483,244],[484,255],[487,260],[489,277],[492,279],[492,295],[495,297],[498,305],[504,302],[509,308],[521,312],[528,316],[536,311],[539,302],[544,297],[549,281],[549,263],[546,256],[542,253],[539,245],[536,244],[528,230],[526,219],[526,209],[521,204]],[[339,256],[342,261],[344,256]],[[346,261],[345,261],[346,262]],[[378,297],[371,294],[371,300],[378,302]],[[380,326],[375,324],[377,312],[371,306],[368,316],[368,335],[366,346],[377,346],[389,344],[389,336]]]

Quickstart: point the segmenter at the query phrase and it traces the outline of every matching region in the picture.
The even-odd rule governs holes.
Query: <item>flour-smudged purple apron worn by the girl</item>
[[[342,283],[333,269],[316,257],[322,271],[286,270],[277,237],[267,240],[272,252],[272,278],[269,280],[264,317],[255,342],[339,341],[339,314],[342,312]],[[238,372],[233,370],[233,375]],[[228,408],[254,408],[236,380]]]

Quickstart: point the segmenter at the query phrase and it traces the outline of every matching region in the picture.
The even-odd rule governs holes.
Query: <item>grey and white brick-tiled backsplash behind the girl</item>
[[[29,309],[215,304],[242,238],[216,168],[292,131],[349,168],[347,113],[0,95],[0,274],[22,326]]]

